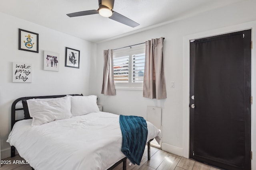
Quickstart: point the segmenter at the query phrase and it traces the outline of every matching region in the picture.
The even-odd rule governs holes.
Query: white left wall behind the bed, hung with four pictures
[[[12,102],[24,96],[82,93],[89,95],[90,59],[96,44],[0,13],[0,137],[2,158],[10,156],[6,143],[11,128]],[[39,34],[39,53],[18,50],[18,28]],[[80,69],[65,67],[65,47],[80,50]],[[43,51],[60,54],[59,72],[43,70]],[[12,62],[33,64],[32,83],[12,82]]]

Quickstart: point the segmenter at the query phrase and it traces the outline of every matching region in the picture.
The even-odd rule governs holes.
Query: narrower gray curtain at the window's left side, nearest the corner
[[[101,94],[115,96],[113,50],[104,50],[104,70]]]

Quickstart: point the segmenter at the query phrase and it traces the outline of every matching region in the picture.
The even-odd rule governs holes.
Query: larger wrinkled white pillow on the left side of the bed
[[[27,100],[27,103],[30,117],[33,118],[32,126],[72,117],[69,96],[54,98],[49,101],[30,99]]]

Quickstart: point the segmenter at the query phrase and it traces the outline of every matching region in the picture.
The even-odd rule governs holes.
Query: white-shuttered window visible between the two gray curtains
[[[145,47],[114,51],[114,82],[116,89],[142,90],[145,66]]]

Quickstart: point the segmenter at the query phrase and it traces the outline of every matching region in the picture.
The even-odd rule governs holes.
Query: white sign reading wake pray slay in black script
[[[32,64],[13,62],[12,82],[32,82]]]

